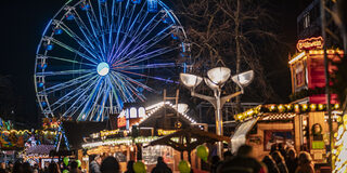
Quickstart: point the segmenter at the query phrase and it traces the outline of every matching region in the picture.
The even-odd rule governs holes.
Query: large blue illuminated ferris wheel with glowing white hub
[[[69,0],[37,49],[35,84],[46,117],[103,121],[124,103],[144,101],[149,80],[185,63],[189,43],[160,0]],[[162,72],[160,72],[162,71]]]

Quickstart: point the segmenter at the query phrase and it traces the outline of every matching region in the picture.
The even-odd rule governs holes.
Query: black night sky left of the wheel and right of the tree
[[[273,12],[278,14],[275,19],[282,30],[280,36],[284,42],[292,45],[291,52],[294,52],[296,16],[309,0],[273,1],[273,6],[277,6]],[[1,0],[0,2],[0,75],[10,76],[13,82],[18,101],[15,115],[30,122],[37,122],[39,115],[33,78],[36,48],[44,26],[64,2],[64,0]],[[279,58],[287,58],[287,54]],[[290,88],[290,83],[284,86]]]

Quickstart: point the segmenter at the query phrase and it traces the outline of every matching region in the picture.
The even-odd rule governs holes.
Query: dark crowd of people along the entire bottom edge
[[[314,165],[310,155],[306,151],[296,155],[294,148],[284,149],[283,145],[273,145],[269,155],[261,161],[254,157],[253,147],[242,145],[235,156],[230,151],[223,154],[222,160],[214,156],[209,160],[211,173],[314,173]],[[0,173],[82,173],[77,161],[72,161],[68,167],[51,162],[43,169],[38,164],[30,165],[28,162],[16,161],[14,164],[0,164]],[[130,160],[125,173],[137,173],[133,169],[134,161]],[[119,173],[120,167],[116,158],[106,157],[102,160],[97,156],[89,165],[89,173]],[[156,167],[147,172],[171,173],[171,169],[164,162],[162,157],[157,158]],[[193,170],[191,170],[191,173]]]

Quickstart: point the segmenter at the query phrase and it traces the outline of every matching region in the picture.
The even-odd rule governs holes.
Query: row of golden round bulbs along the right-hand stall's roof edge
[[[332,105],[332,110],[338,110],[339,104]],[[259,117],[266,112],[309,112],[309,111],[325,111],[325,104],[285,104],[285,105],[259,105],[244,112],[234,116],[236,121],[244,121],[247,118]],[[337,119],[337,117],[336,117]]]

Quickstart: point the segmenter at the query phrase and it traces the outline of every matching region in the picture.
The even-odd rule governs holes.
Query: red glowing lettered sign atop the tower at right
[[[301,52],[305,50],[316,50],[323,48],[323,38],[322,37],[313,37],[305,40],[299,40],[296,44],[296,49]]]

